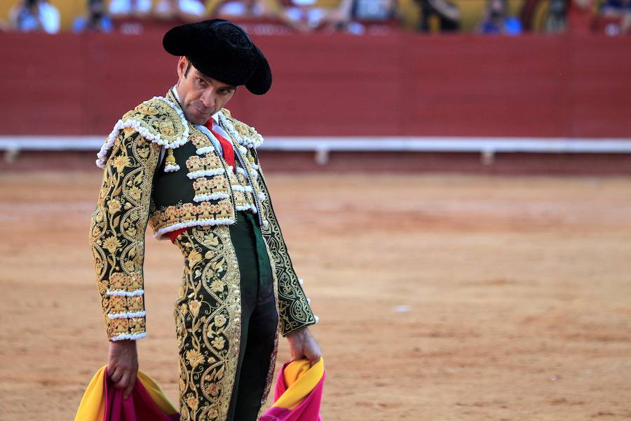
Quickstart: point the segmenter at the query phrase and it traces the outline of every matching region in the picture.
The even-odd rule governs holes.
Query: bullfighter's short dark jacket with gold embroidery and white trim
[[[156,238],[165,239],[168,232],[184,227],[226,229],[238,210],[258,215],[276,275],[281,333],[317,320],[294,272],[259,166],[255,148],[262,138],[227,109],[219,112],[219,123],[235,147],[234,172],[217,154],[212,134],[186,121],[171,92],[126,113],[97,154],[104,174],[90,243],[110,340],[145,335],[147,222]]]

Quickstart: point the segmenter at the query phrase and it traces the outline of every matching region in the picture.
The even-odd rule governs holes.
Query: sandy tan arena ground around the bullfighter
[[[1,420],[72,420],[107,362],[100,177],[0,174]],[[325,420],[631,418],[631,179],[268,178],[321,320]],[[181,268],[148,239],[140,366],[176,404]]]

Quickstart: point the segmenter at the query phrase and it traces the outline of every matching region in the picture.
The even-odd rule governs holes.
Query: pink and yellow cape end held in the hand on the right
[[[325,377],[322,358],[313,367],[308,360],[283,364],[276,381],[274,404],[259,421],[322,421],[320,401]]]

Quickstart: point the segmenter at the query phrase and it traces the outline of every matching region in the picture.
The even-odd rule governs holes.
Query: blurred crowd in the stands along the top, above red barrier
[[[255,32],[269,34],[314,31],[379,34],[398,27],[419,32],[506,35],[597,32],[616,36],[631,32],[631,0],[76,1],[87,1],[87,4],[86,13],[73,16],[72,25],[67,25],[67,29],[74,32],[140,33],[151,25],[172,25],[206,18],[226,18],[243,25],[258,25]],[[17,0],[0,29],[59,32],[62,29],[61,13],[55,4],[59,5],[59,2]],[[478,5],[477,8],[474,5]],[[475,22],[463,26],[463,13],[475,13]]]

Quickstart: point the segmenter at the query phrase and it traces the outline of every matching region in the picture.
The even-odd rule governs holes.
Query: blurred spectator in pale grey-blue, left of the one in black
[[[392,22],[398,18],[395,0],[342,0],[324,21],[336,29],[363,34],[367,24]]]

